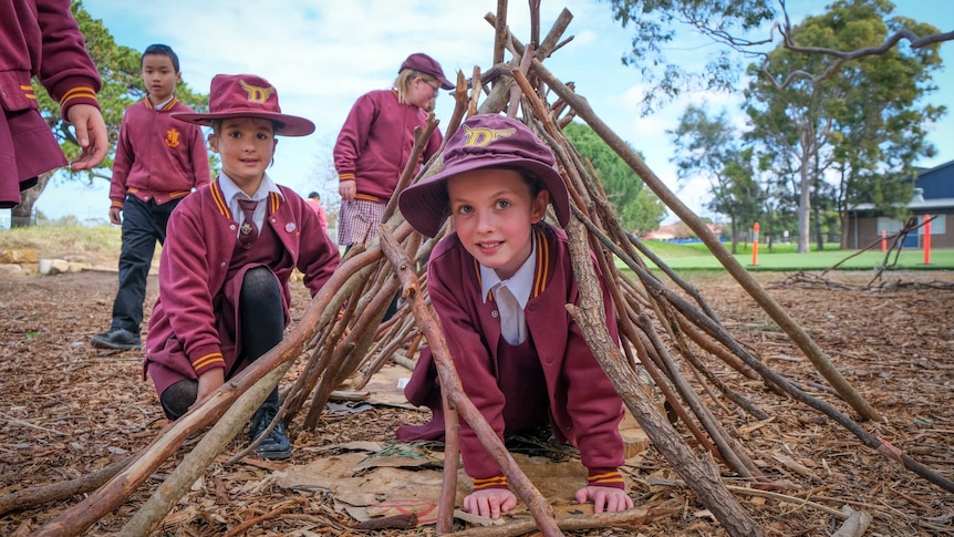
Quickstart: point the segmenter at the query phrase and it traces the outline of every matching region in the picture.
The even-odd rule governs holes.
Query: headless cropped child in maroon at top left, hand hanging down
[[[92,169],[110,151],[96,93],[102,83],[86,52],[70,0],[0,0],[0,209],[20,204],[20,190],[66,164],[39,113],[37,76],[76,130],[73,172]]]

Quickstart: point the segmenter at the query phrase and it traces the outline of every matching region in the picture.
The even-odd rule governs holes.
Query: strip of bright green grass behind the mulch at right
[[[649,240],[646,246],[666,265],[678,270],[724,270],[722,264],[703,244],[676,245]],[[726,244],[726,249],[730,244]],[[839,250],[838,245],[826,245],[826,249],[808,254],[796,254],[796,246],[772,245],[771,251],[765,245],[759,245],[758,262],[753,265],[751,244],[739,244],[735,258],[748,270],[765,271],[799,271],[825,270],[846,258],[858,254],[858,250]],[[816,245],[812,245],[815,248]],[[924,265],[924,252],[920,249],[903,249],[898,256],[895,251],[888,254],[881,250],[865,251],[848,259],[838,268],[840,270],[871,270],[881,266],[891,266],[896,270],[954,270],[954,249],[932,249],[931,262]]]

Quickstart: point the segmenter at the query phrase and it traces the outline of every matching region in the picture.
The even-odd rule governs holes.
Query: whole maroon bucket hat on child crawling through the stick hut
[[[557,220],[570,223],[570,195],[553,167],[549,147],[517,120],[496,114],[468,117],[447,141],[444,168],[407,187],[397,198],[404,218],[422,235],[436,237],[450,214],[447,179],[480,168],[509,168],[539,178],[550,190]]]

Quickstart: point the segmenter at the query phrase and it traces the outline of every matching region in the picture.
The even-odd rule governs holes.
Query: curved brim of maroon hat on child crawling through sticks
[[[444,169],[404,189],[397,198],[397,207],[411,226],[422,235],[436,237],[449,216],[447,179],[474,169],[507,168],[528,173],[543,182],[550,192],[550,203],[560,226],[570,224],[570,195],[563,177],[553,167],[527,158],[465,158],[458,165],[450,164]]]

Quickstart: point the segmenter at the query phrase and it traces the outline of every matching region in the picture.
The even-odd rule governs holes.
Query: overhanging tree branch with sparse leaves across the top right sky
[[[894,4],[886,0],[871,0],[885,12]],[[853,60],[880,55],[899,49],[902,42],[912,51],[936,49],[942,41],[954,40],[954,31],[940,32],[936,28],[908,18],[895,18],[889,24],[890,33],[878,41],[865,41],[841,47],[807,43],[796,37],[786,0],[610,0],[613,19],[623,28],[632,28],[632,50],[622,58],[624,64],[641,70],[653,87],[646,92],[643,104],[650,112],[685,91],[733,90],[748,63],[763,64],[784,87],[797,80],[819,82]],[[705,66],[689,71],[672,58],[666,45],[676,32],[689,30],[707,43],[718,47],[705,56]],[[775,49],[775,32],[781,37],[779,47],[818,56],[811,70],[786,71],[781,65],[765,62]]]

